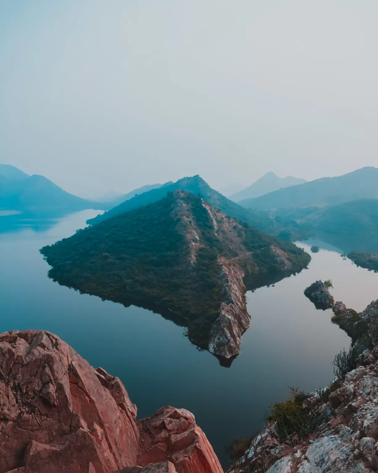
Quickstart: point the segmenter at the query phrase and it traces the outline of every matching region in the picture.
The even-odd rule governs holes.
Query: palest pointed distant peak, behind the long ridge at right
[[[246,189],[230,195],[229,199],[234,202],[243,199],[253,199],[284,187],[290,187],[290,185],[303,184],[305,182],[307,182],[306,179],[299,179],[298,177],[293,176],[278,177],[274,173],[270,172],[264,174],[263,177],[257,179],[256,182],[251,184],[249,187],[246,187]]]

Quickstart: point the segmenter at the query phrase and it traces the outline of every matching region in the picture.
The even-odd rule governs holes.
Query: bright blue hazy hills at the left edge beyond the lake
[[[17,167],[0,165],[0,209],[73,212],[101,206],[63,191],[44,176],[29,176]]]

